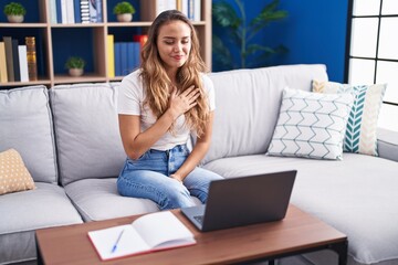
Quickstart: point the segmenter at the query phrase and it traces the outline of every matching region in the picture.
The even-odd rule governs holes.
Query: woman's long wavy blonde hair
[[[206,66],[200,57],[199,41],[193,25],[185,14],[177,10],[168,10],[160,13],[148,31],[148,41],[145,43],[142,52],[142,73],[144,85],[146,87],[147,104],[154,115],[159,118],[168,108],[169,87],[174,86],[166,74],[164,63],[157,50],[157,38],[161,25],[172,21],[185,22],[191,31],[191,50],[187,62],[177,71],[177,89],[184,92],[190,86],[198,87],[200,96],[198,104],[185,114],[186,124],[190,129],[195,129],[198,137],[205,132],[206,125],[209,120],[210,108],[207,93],[203,89],[200,73],[206,72]],[[174,126],[170,127],[172,131]]]

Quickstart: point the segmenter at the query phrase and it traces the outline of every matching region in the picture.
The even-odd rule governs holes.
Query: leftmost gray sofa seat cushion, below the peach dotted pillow
[[[61,187],[35,186],[0,197],[0,264],[34,259],[35,230],[83,222]]]

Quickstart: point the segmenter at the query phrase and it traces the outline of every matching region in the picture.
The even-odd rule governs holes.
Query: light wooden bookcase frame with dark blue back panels
[[[107,34],[114,34],[115,39],[119,35],[129,34],[129,32],[147,32],[151,25],[151,21],[156,14],[153,10],[157,4],[157,1],[161,0],[138,0],[139,7],[136,7],[136,11],[139,12],[142,21],[133,21],[128,23],[121,23],[108,20],[108,12],[112,12],[115,0],[103,0],[103,21],[101,23],[74,23],[74,24],[54,24],[51,23],[50,13],[51,0],[36,0],[29,4],[38,4],[39,20],[40,21],[25,21],[24,23],[3,23],[0,22],[1,32],[12,38],[24,39],[28,35],[36,36],[36,59],[41,63],[41,71],[39,73],[39,81],[34,82],[8,82],[0,83],[0,89],[7,89],[19,86],[38,85],[43,84],[48,87],[52,87],[57,84],[74,84],[84,82],[117,82],[123,76],[111,77],[107,74]],[[72,0],[71,0],[72,1]],[[137,1],[137,2],[138,2]],[[109,15],[109,18],[112,18]],[[201,21],[195,21],[192,24],[198,32],[201,56],[207,64],[209,71],[211,70],[211,0],[201,0]],[[82,32],[82,34],[81,34]],[[88,32],[88,33],[87,33]],[[114,33],[115,32],[115,33]],[[123,33],[119,33],[123,32]],[[86,34],[87,33],[87,34]],[[4,35],[0,34],[0,35]],[[119,35],[118,35],[119,34]],[[65,49],[60,47],[66,45],[67,49],[72,49],[73,42],[78,41],[78,38],[85,38],[88,43],[92,43],[90,50],[93,54],[93,70],[86,71],[81,77],[71,77],[66,74],[66,70],[63,68],[64,62],[60,62],[59,53]],[[66,41],[64,41],[66,40]],[[67,40],[71,40],[69,43]],[[20,41],[21,42],[21,41]],[[76,49],[76,47],[74,47]],[[78,49],[77,49],[78,50]],[[71,52],[71,55],[73,52]]]

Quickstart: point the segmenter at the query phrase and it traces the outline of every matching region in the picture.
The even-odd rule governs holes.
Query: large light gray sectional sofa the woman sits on
[[[217,110],[202,167],[226,178],[297,169],[292,203],[348,235],[348,264],[398,264],[398,132],[380,130],[379,157],[344,153],[343,161],[329,161],[265,156],[283,88],[310,91],[313,78],[327,80],[325,66],[209,75]],[[0,151],[17,149],[36,186],[0,195],[0,264],[34,263],[38,229],[158,211],[151,201],[124,198],[116,190],[125,160],[117,86],[0,91]],[[279,262],[337,264],[336,255],[325,251]]]

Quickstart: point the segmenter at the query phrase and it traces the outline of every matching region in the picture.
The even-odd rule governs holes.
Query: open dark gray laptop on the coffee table
[[[284,219],[296,170],[214,180],[206,205],[182,208],[202,232]]]

